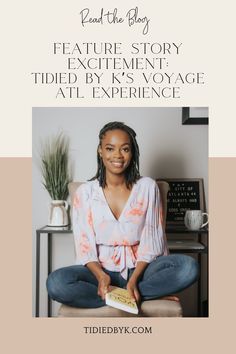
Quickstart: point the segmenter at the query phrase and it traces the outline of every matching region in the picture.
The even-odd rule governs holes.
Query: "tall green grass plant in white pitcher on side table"
[[[72,181],[69,166],[69,139],[63,133],[47,138],[41,149],[43,185],[52,198],[48,226],[67,226],[68,183]]]

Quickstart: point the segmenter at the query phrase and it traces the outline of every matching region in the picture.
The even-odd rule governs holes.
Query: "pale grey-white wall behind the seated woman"
[[[41,184],[38,167],[40,141],[64,131],[70,137],[74,180],[85,181],[96,172],[98,133],[119,120],[137,133],[141,175],[153,178],[204,178],[208,205],[208,127],[182,125],[181,108],[34,108],[33,109],[33,314],[35,304],[35,230],[47,223],[50,198]],[[40,315],[47,314],[46,236],[42,242]],[[71,235],[53,239],[53,269],[74,263]],[[195,299],[195,293],[191,296]],[[189,305],[188,305],[189,306]],[[192,307],[191,307],[192,306]],[[188,314],[194,315],[195,303]],[[54,313],[57,305],[54,304]]]

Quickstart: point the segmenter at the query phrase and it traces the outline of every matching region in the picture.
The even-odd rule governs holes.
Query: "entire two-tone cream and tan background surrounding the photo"
[[[1,346],[7,353],[165,352],[199,353],[210,349],[233,352],[235,306],[235,158],[210,159],[210,314],[209,319],[140,319],[153,324],[152,336],[85,336],[83,324],[113,323],[112,319],[35,319],[31,316],[31,110],[33,106],[94,105],[92,101],[56,102],[52,90],[33,89],[31,71],[61,70],[50,53],[59,41],[143,41],[136,31],[107,27],[81,32],[78,12],[118,4],[116,1],[56,0],[4,2],[1,11]],[[198,94],[187,91],[179,106],[210,107],[210,156],[236,156],[234,94],[234,1],[119,1],[119,7],[140,5],[153,18],[148,41],[181,41],[183,56],[173,69],[201,70],[208,83]],[[148,5],[147,5],[148,4]],[[108,105],[107,102],[102,104]],[[101,105],[97,102],[96,105]],[[123,101],[110,106],[176,106],[176,102]],[[21,158],[20,158],[21,157]],[[28,158],[23,158],[28,157]],[[224,182],[224,183],[223,183]],[[232,196],[232,197],[231,197]],[[20,207],[19,207],[20,206]],[[232,305],[233,303],[233,305]],[[122,320],[124,321],[124,320]],[[131,323],[128,319],[126,323]],[[116,324],[120,323],[116,319]],[[137,323],[137,320],[135,320]]]

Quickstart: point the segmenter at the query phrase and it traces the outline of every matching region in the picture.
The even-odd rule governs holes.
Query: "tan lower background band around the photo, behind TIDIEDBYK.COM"
[[[120,353],[129,345],[127,351],[138,353],[199,353],[234,347],[235,158],[209,159],[209,318],[32,318],[31,159],[2,158],[0,170],[2,352]],[[85,334],[85,326],[109,325],[151,326],[152,334]]]

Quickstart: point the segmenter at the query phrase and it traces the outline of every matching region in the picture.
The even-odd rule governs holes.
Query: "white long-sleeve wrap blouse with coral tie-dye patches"
[[[162,205],[156,182],[141,177],[118,219],[112,213],[98,180],[82,184],[73,203],[76,264],[99,262],[127,279],[139,261],[167,255]]]

